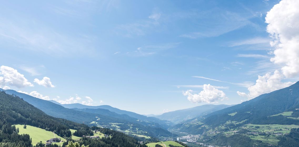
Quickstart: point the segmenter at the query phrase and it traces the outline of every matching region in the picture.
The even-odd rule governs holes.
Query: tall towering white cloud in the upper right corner
[[[271,61],[282,66],[287,78],[299,73],[299,1],[282,0],[266,15],[267,32],[273,37],[275,47]]]

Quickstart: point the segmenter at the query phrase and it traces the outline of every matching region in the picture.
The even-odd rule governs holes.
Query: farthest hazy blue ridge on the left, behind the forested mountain
[[[58,102],[56,102],[56,103],[58,103]],[[126,114],[130,117],[137,118],[137,119],[142,120],[142,121],[149,121],[149,122],[153,122],[153,123],[158,123],[163,128],[166,128],[166,129],[168,129],[169,126],[173,125],[173,123],[170,122],[170,121],[160,120],[160,119],[155,118],[155,117],[147,117],[147,116],[137,114],[137,113],[134,113],[134,112],[130,112],[130,111],[126,111],[126,110],[120,110],[118,108],[114,108],[114,107],[109,106],[109,105],[86,106],[86,105],[82,105],[80,103],[60,104],[60,105],[65,107],[65,108],[70,108],[70,109],[72,109],[72,108],[77,108],[77,109],[107,109],[111,112],[115,112],[117,114]]]

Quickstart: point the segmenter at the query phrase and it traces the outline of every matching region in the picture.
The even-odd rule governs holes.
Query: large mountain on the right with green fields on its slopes
[[[298,128],[299,82],[241,104],[186,120],[171,129],[201,134],[198,140],[217,146],[255,144],[285,147],[288,141],[299,146]]]

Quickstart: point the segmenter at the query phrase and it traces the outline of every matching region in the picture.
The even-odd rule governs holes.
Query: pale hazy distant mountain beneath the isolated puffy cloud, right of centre
[[[176,110],[172,112],[163,113],[161,115],[154,115],[154,117],[162,120],[169,120],[175,124],[181,123],[184,120],[189,120],[194,117],[200,117],[211,112],[215,112],[233,105],[202,105],[188,109]]]

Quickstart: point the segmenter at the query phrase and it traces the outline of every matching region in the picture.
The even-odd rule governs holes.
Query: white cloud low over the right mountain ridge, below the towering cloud
[[[293,82],[282,82],[283,79],[283,74],[281,74],[278,70],[276,70],[273,75],[271,75],[271,73],[267,73],[263,76],[259,75],[255,85],[248,87],[248,94],[239,91],[237,94],[252,99],[259,95],[282,89],[294,84]]]

